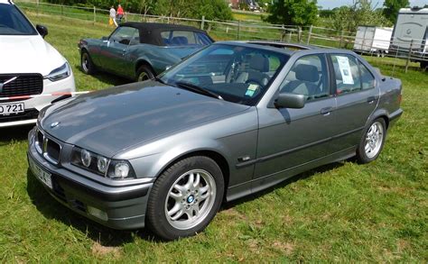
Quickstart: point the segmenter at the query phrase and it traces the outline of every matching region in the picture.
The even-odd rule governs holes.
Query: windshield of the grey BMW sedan
[[[214,44],[160,78],[172,86],[188,83],[229,102],[256,105],[288,59],[288,55],[271,50]]]

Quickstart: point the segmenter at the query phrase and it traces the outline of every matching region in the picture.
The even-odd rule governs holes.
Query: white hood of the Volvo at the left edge
[[[40,73],[48,75],[65,59],[40,35],[0,36],[0,73]]]

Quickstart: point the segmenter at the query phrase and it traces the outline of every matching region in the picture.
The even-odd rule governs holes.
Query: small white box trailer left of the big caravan
[[[384,56],[388,52],[393,28],[358,26],[354,51],[375,53]]]

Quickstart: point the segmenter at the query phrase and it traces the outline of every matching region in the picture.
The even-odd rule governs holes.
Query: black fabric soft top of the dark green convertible
[[[121,23],[119,26],[128,26],[128,27],[133,27],[135,29],[138,29],[138,31],[140,32],[140,43],[152,44],[156,46],[165,45],[161,37],[161,32],[169,32],[169,31],[200,32],[209,37],[209,35],[205,31],[202,31],[192,26],[179,25],[179,24],[126,22],[126,23]],[[209,37],[209,39],[211,38]]]

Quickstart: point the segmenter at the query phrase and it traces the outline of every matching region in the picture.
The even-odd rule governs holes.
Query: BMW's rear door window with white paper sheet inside
[[[348,54],[330,55],[338,95],[361,90],[358,60]]]

